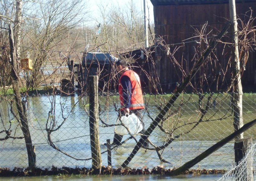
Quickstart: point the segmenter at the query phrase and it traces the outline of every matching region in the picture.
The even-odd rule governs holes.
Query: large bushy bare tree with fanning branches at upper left
[[[69,31],[86,20],[87,13],[86,3],[79,0],[36,1],[33,6],[39,9],[35,15],[36,19],[27,20],[27,24],[33,25],[34,29],[23,31],[30,41],[30,46],[26,49],[34,52],[33,70],[28,83],[30,87],[39,85],[48,60],[59,55],[62,48],[66,50],[66,42],[63,39],[68,37]]]

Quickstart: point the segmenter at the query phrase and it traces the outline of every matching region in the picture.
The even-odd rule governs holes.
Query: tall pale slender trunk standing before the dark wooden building
[[[232,70],[232,79],[234,81],[234,93],[232,94],[233,99],[233,110],[234,110],[234,128],[238,130],[241,128],[243,123],[243,89],[241,83],[240,75],[240,61],[238,53],[238,37],[237,37],[237,21],[236,21],[236,3],[235,0],[229,0],[229,14],[231,21],[231,40],[233,43],[232,47],[232,61],[231,61],[231,70]],[[237,136],[237,139],[243,139],[244,134]]]

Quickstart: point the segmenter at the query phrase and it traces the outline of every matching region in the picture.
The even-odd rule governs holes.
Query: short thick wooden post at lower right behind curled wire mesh
[[[251,137],[235,140],[234,149],[236,165],[238,165],[239,162],[244,158],[245,154],[247,153],[247,149],[250,147],[251,143]],[[241,167],[236,168],[236,174],[237,181],[252,181],[252,165],[250,166],[248,165],[248,163],[245,163]]]

